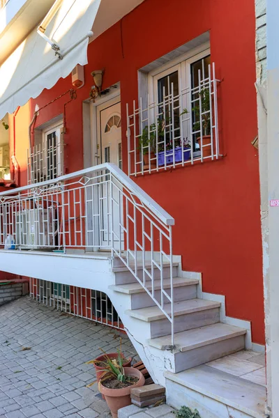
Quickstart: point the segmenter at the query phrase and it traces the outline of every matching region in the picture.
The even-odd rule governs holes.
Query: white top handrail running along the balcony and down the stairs
[[[140,196],[140,199],[144,204],[151,210],[164,224],[166,225],[174,225],[174,218],[169,215],[163,208],[161,208],[156,201],[154,201],[149,194],[144,192],[144,190],[138,186],[133,180],[131,180],[126,173],[124,173],[119,167],[116,166],[116,164],[105,162],[103,164],[98,164],[97,166],[89,167],[88,169],[82,169],[79,171],[75,171],[74,173],[65,174],[64,176],[60,176],[55,178],[54,180],[46,180],[41,181],[40,183],[17,187],[16,189],[8,190],[7,192],[1,192],[0,196],[6,196],[8,194],[15,194],[24,192],[27,190],[31,190],[34,187],[44,187],[49,186],[55,183],[60,183],[66,180],[70,180],[71,178],[75,178],[77,176],[84,176],[86,174],[91,173],[92,171],[101,171],[107,169],[109,170],[116,178],[119,178],[121,180],[121,183],[128,187],[130,191],[135,193],[136,195]]]

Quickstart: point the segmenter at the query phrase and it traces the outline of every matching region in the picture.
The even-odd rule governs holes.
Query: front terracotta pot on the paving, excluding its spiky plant
[[[112,412],[112,418],[118,417],[118,410],[125,406],[131,405],[130,391],[134,387],[143,386],[145,383],[144,375],[140,370],[133,369],[133,367],[124,367],[126,376],[138,378],[139,380],[134,385],[123,387],[123,389],[110,389],[100,383],[100,393],[105,395],[105,400],[110,412]]]

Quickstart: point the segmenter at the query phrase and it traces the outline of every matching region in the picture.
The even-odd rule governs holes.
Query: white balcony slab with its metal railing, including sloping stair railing
[[[105,292],[120,266],[173,322],[164,287],[172,287],[173,224],[121,169],[100,164],[0,193],[1,270]]]

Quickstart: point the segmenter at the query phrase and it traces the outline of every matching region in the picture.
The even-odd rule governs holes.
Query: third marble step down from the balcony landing
[[[204,327],[218,323],[219,302],[210,300],[191,299],[174,303],[174,332],[182,332],[197,327]],[[167,314],[171,313],[171,305],[165,304]],[[126,314],[150,323],[151,339],[167,336],[172,332],[171,323],[159,307],[129,309]]]

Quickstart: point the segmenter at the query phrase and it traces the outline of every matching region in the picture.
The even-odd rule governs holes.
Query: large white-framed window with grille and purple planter
[[[147,98],[127,104],[129,175],[220,157],[217,82],[209,49],[149,73]]]

